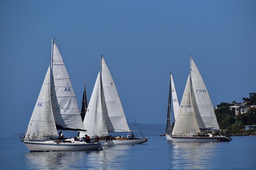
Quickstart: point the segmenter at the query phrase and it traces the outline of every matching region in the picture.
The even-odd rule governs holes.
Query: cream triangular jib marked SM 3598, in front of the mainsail
[[[193,104],[189,84],[190,76],[188,76],[187,84],[180,103],[179,112],[172,130],[172,135],[182,136],[189,135],[190,132],[194,134],[200,133],[195,114],[195,110],[197,108],[196,105]]]

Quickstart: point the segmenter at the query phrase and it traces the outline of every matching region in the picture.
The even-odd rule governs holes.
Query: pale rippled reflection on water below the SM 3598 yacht
[[[168,141],[172,169],[207,169],[212,167],[218,143],[174,143]]]

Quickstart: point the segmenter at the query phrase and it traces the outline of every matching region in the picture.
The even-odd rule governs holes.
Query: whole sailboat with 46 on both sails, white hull
[[[100,142],[60,138],[57,129],[85,131],[68,72],[52,39],[51,63],[21,141],[30,152],[102,149]]]

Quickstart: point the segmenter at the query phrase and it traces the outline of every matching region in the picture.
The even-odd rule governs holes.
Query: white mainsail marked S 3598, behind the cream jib
[[[191,81],[196,104],[204,122],[205,129],[220,129],[210,96],[193,59],[191,59]],[[200,129],[203,128],[200,127]]]

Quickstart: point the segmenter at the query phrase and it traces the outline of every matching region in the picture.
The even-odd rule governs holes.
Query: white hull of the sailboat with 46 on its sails
[[[56,140],[48,141],[23,141],[30,152],[46,152],[46,151],[92,151],[102,150],[100,142],[85,143],[73,141],[70,143],[59,143]],[[71,141],[71,140],[70,140]]]

